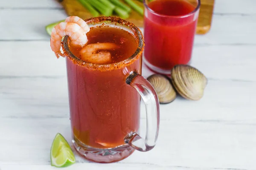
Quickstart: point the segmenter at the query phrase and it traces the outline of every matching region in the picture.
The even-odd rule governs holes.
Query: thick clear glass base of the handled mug
[[[77,139],[72,140],[73,147],[76,151],[89,161],[94,161],[98,163],[111,163],[116,161],[121,161],[127,158],[134,152],[134,148],[129,144],[124,144],[118,147],[109,149],[100,149],[87,146]]]

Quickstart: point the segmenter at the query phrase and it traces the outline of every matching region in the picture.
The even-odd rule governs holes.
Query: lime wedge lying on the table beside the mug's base
[[[74,153],[66,139],[57,133],[51,147],[51,165],[55,167],[67,167],[76,162]]]

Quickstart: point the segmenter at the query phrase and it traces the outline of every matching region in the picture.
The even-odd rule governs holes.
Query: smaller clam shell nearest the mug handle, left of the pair
[[[153,74],[147,78],[148,82],[154,87],[157,92],[159,102],[166,104],[172,102],[176,98],[176,92],[172,87],[168,78],[160,74]]]

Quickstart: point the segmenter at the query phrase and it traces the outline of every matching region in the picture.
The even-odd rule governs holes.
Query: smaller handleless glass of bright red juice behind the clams
[[[143,60],[151,70],[170,74],[191,59],[200,0],[144,0],[144,6]]]

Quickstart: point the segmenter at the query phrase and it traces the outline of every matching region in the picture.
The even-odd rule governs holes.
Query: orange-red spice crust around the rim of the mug
[[[129,31],[132,31],[134,33],[134,36],[136,37],[136,40],[138,43],[138,47],[135,53],[131,55],[131,57],[123,61],[111,63],[111,64],[93,64],[93,63],[89,63],[79,59],[70,51],[70,48],[69,48],[70,39],[66,35],[61,45],[63,48],[64,55],[69,57],[71,60],[73,60],[74,64],[79,64],[81,66],[84,66],[93,70],[101,70],[101,71],[114,70],[114,69],[123,68],[127,65],[131,65],[143,53],[143,49],[144,49],[143,34],[140,31],[140,29],[137,26],[135,26],[133,23],[130,23],[127,20],[123,20],[119,17],[92,17],[84,21],[88,24],[89,27],[93,27],[95,26],[95,24],[98,24],[96,26],[100,26],[100,24],[104,24],[102,26],[108,25],[108,26],[120,26],[121,28],[128,28]]]

